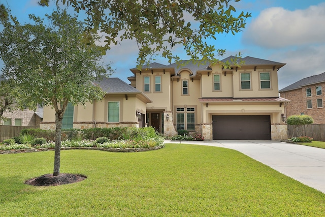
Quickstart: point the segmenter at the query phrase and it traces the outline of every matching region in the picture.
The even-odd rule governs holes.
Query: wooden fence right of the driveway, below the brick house
[[[325,142],[325,125],[288,125],[288,137],[308,136],[315,141]]]

